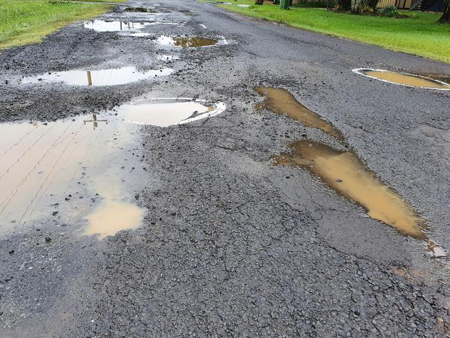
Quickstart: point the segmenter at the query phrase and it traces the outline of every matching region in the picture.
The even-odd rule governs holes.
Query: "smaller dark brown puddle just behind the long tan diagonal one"
[[[265,98],[258,105],[258,110],[268,109],[276,114],[287,115],[307,127],[323,130],[323,132],[336,137],[340,141],[344,140],[341,133],[330,122],[325,121],[320,115],[307,109],[307,107],[299,103],[286,89],[256,87],[255,90]]]

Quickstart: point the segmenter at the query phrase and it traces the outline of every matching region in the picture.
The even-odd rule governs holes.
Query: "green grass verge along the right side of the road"
[[[255,6],[254,1],[249,0],[230,2],[233,5],[219,6],[251,17],[450,63],[450,24],[437,24],[439,14],[414,12],[411,18],[395,19],[343,14],[323,8],[280,10],[279,6],[267,3]],[[235,6],[239,3],[251,5],[251,8]]]

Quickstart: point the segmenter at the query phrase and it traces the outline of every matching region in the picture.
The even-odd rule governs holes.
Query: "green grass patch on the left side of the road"
[[[96,17],[110,8],[105,3],[0,0],[0,48],[41,42],[67,24]]]

